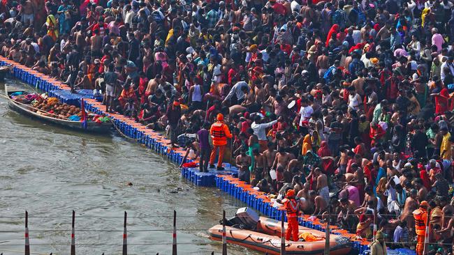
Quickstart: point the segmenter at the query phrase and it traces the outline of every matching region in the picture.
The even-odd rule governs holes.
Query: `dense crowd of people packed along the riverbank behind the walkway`
[[[293,190],[302,212],[362,238],[376,224],[377,239],[415,247],[427,210],[426,249],[448,254],[452,9],[451,0],[2,0],[0,54],[74,93],[102,93],[106,111],[166,131],[200,171],[231,161],[241,180],[273,197]]]

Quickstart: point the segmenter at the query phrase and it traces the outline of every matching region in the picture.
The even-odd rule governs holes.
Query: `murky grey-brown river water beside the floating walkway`
[[[0,93],[4,94],[0,84]],[[0,253],[23,254],[29,212],[32,254],[69,254],[75,210],[77,254],[171,254],[173,210],[179,254],[220,254],[207,229],[243,203],[182,180],[180,169],[117,134],[63,130],[8,109],[0,98]],[[131,182],[133,185],[127,185]],[[229,254],[258,254],[228,245]]]

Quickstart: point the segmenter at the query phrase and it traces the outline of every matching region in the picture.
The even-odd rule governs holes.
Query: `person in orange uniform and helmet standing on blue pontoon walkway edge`
[[[217,161],[217,170],[224,170],[222,167],[222,159],[224,158],[224,150],[226,150],[227,138],[232,138],[228,126],[224,123],[224,115],[217,115],[217,122],[213,123],[210,128],[211,138],[213,140],[213,150],[210,155],[210,167],[214,167],[214,158],[216,151],[219,148],[219,157]]]

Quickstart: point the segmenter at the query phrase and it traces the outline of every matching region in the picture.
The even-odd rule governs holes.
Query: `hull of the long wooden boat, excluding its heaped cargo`
[[[36,112],[32,111],[32,107],[29,105],[24,105],[22,103],[16,102],[11,98],[11,94],[15,92],[23,92],[28,93],[26,88],[22,86],[15,86],[10,84],[5,84],[5,93],[8,97],[8,106],[13,111],[17,111],[20,114],[24,114],[31,118],[36,118],[40,121],[45,121],[46,123],[51,123],[53,125],[59,125],[61,127],[66,127],[71,130],[78,130],[82,132],[96,132],[96,133],[108,133],[110,132],[110,128],[112,127],[111,122],[106,123],[96,123],[94,121],[87,121],[87,128],[82,126],[80,121],[68,121],[61,118],[55,118],[52,116],[46,116],[43,114],[37,114]]]

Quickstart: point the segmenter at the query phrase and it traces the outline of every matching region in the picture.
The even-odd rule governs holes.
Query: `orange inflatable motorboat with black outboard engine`
[[[286,223],[284,223],[284,226],[287,228]],[[212,240],[222,240],[221,224],[213,226],[209,232]],[[325,249],[325,232],[309,229],[304,226],[300,226],[299,232],[300,235],[302,233],[310,233],[317,240],[300,242],[286,241],[286,254],[323,254]],[[254,231],[239,229],[235,225],[226,226],[227,242],[268,254],[280,254],[280,236],[281,222],[266,217],[259,217]],[[330,255],[349,254],[351,248],[351,242],[348,238],[342,235],[330,235]]]

